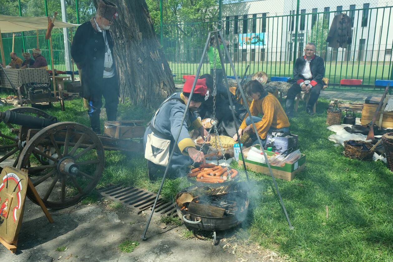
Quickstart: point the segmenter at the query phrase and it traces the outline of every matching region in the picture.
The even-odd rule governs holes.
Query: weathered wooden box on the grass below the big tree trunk
[[[145,126],[142,120],[105,121],[104,134],[118,139],[141,138],[145,134]]]

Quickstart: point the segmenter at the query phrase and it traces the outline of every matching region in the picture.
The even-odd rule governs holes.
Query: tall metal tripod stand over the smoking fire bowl
[[[219,21],[218,24],[219,24],[219,26],[222,26],[223,22],[222,22],[222,21]],[[192,98],[192,96],[193,96],[193,94],[194,94],[196,81],[197,81],[197,79],[198,79],[198,77],[199,77],[200,70],[201,70],[202,65],[203,65],[203,61],[204,61],[204,58],[205,58],[205,55],[206,55],[206,51],[207,51],[208,46],[209,46],[209,42],[210,42],[210,37],[211,37],[211,35],[214,34],[216,43],[219,43],[219,39],[220,39],[222,42],[224,42],[224,37],[222,37],[222,33],[221,33],[222,28],[214,27],[214,29],[215,29],[215,31],[209,32],[208,38],[207,38],[207,40],[206,40],[205,47],[204,47],[204,49],[203,49],[203,52],[202,52],[202,56],[201,56],[200,62],[199,62],[199,64],[198,64],[198,69],[196,70],[196,75],[195,75],[195,79],[194,79],[194,82],[193,82],[193,86],[192,86],[192,88],[191,88],[191,92],[190,92],[190,95],[189,95],[189,99],[188,99],[188,101],[187,101],[187,104],[185,105],[185,111],[184,111],[184,114],[183,114],[183,117],[182,117],[182,123],[183,123],[184,120],[185,120],[185,117],[186,117],[186,115],[187,115],[186,113],[187,113],[187,110],[188,110],[189,105],[190,105],[190,102],[191,102],[191,98]],[[223,58],[223,55],[222,55],[222,51],[220,50],[220,48],[217,48],[217,51],[218,51],[219,56],[220,56],[220,62],[221,62],[222,70],[223,70],[223,75],[225,76],[225,75],[226,75],[226,72],[225,72],[225,67],[224,67],[224,58]],[[226,56],[227,56],[227,58],[228,58],[229,64],[230,64],[230,66],[231,66],[231,69],[232,69],[232,71],[233,71],[233,75],[235,76],[235,79],[236,79],[236,82],[237,82],[237,88],[240,90],[240,93],[241,93],[241,96],[242,96],[242,99],[243,99],[244,104],[247,105],[247,99],[246,99],[246,97],[245,97],[245,95],[244,95],[242,86],[241,86],[240,81],[239,81],[239,79],[238,79],[238,75],[237,75],[237,73],[236,73],[235,66],[233,65],[233,61],[232,61],[232,59],[231,59],[230,53],[229,53],[228,48],[227,48],[227,46],[226,46],[225,44],[224,44],[224,51],[225,51]],[[226,91],[227,91],[227,93],[228,93],[228,97],[230,98],[230,97],[231,97],[231,93],[230,93],[230,90],[229,90],[228,79],[227,79],[226,77],[224,77],[224,79],[225,79],[225,84],[226,84]],[[235,119],[235,106],[233,105],[232,99],[229,99],[229,103],[230,103],[230,108],[231,108],[231,112],[232,112],[233,119]],[[244,106],[244,107],[246,108],[248,115],[251,116],[250,108],[248,108],[248,106]],[[256,126],[255,126],[255,122],[253,121],[252,117],[251,117],[251,122],[252,122],[253,130],[255,131],[256,134],[258,134],[257,128],[256,128]],[[238,131],[238,130],[239,130],[239,126],[237,126],[236,121],[235,121],[235,129],[237,130],[237,131],[236,131],[237,136],[240,137],[240,136],[239,136],[239,131]],[[179,141],[180,132],[181,132],[181,130],[179,130],[179,132],[178,132],[178,134],[177,134],[177,136],[176,136],[176,139],[175,139],[175,142],[174,142],[175,144],[177,144],[178,141]],[[259,136],[257,136],[257,139],[258,139],[259,145],[261,146],[261,148],[263,148],[261,138],[260,138]],[[171,163],[171,160],[172,160],[172,158],[173,158],[173,154],[174,154],[174,150],[175,150],[175,149],[176,149],[176,147],[173,147],[173,148],[172,148],[171,154],[169,155],[169,163]],[[240,147],[240,152],[241,152],[242,156],[244,156],[242,147]],[[262,151],[262,152],[263,152],[264,158],[265,158],[265,159],[268,159],[267,156],[266,156],[266,153],[265,153],[264,151]],[[277,195],[279,196],[279,200],[280,200],[281,206],[283,207],[283,211],[284,211],[284,213],[285,213],[285,217],[286,217],[286,220],[287,220],[287,222],[288,222],[288,225],[289,225],[290,229],[294,229],[294,227],[292,226],[292,224],[291,224],[291,222],[290,222],[290,220],[289,220],[288,214],[287,214],[287,212],[286,212],[286,208],[285,208],[283,199],[282,199],[282,197],[281,197],[281,194],[280,194],[280,191],[279,191],[277,182],[275,181],[275,178],[274,178],[272,169],[271,169],[271,167],[270,167],[269,161],[266,161],[266,163],[267,163],[267,165],[268,165],[268,169],[269,169],[270,175],[272,176],[273,183],[274,183],[275,189],[276,189],[276,191],[277,191]],[[248,173],[247,173],[246,163],[245,163],[245,161],[244,161],[244,158],[243,158],[243,167],[244,167],[244,170],[245,170],[245,173],[246,173],[246,177],[247,177],[247,180],[248,180]],[[154,209],[156,208],[156,204],[157,204],[158,198],[159,198],[159,196],[160,196],[160,192],[161,192],[161,190],[162,190],[162,187],[163,187],[165,178],[166,178],[166,176],[167,176],[168,169],[169,169],[169,164],[168,164],[167,167],[165,168],[165,172],[164,172],[164,175],[163,175],[161,184],[160,184],[160,188],[158,189],[158,192],[157,192],[156,200],[154,201],[154,204],[153,204],[153,207],[152,207],[152,210],[151,210],[149,219],[147,220],[147,224],[146,224],[146,227],[145,227],[145,231],[143,232],[143,235],[141,236],[142,240],[146,240],[146,239],[147,239],[147,238],[146,238],[147,229],[149,228],[149,225],[150,225],[152,216],[153,216],[153,214],[154,214]]]

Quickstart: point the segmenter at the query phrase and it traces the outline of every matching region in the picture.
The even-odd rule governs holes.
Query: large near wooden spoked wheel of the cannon
[[[42,152],[38,146],[55,148],[54,154]],[[30,156],[38,154],[49,160],[48,165],[28,166]],[[31,137],[22,150],[19,169],[39,171],[31,177],[48,208],[70,207],[89,194],[101,178],[105,151],[99,137],[88,127],[73,123],[56,123]],[[31,192],[28,197],[35,203]]]

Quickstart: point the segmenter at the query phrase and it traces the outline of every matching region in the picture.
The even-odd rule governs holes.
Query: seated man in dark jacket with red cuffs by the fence
[[[325,65],[323,59],[315,55],[316,46],[314,43],[307,43],[304,49],[305,55],[296,59],[294,65],[294,83],[288,90],[286,95],[286,115],[294,116],[295,97],[300,91],[310,92],[309,103],[306,111],[310,115],[314,115],[312,107],[318,100],[323,88],[323,75],[325,75]]]

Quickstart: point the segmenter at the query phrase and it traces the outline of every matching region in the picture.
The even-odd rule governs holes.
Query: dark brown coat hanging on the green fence
[[[351,17],[345,14],[334,16],[326,42],[329,43],[327,46],[332,48],[347,48],[352,42]]]

